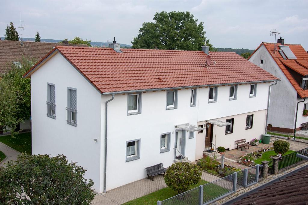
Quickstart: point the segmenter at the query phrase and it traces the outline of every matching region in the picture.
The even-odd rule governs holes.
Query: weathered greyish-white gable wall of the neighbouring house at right
[[[293,129],[297,93],[264,45],[261,45],[253,56],[249,58],[249,61],[259,66],[261,59],[263,59],[262,68],[281,80],[278,81],[277,85],[271,87],[267,123],[272,124],[273,127]]]

